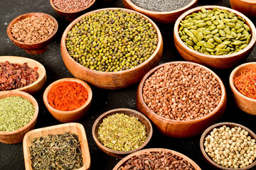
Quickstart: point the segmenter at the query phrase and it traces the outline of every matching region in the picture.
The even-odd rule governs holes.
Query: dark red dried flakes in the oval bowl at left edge
[[[32,84],[38,79],[38,67],[31,69],[25,62],[12,64],[0,62],[0,91],[19,89]]]

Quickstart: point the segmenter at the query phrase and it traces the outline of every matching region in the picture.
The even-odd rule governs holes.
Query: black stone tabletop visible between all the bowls
[[[202,5],[219,5],[230,7],[228,0],[199,0],[198,6]],[[102,1],[97,0],[94,6],[90,10],[97,8],[106,8],[106,7],[124,7],[121,0],[114,1]],[[49,0],[1,0],[0,1],[0,56],[4,55],[13,55],[13,56],[22,56],[29,57],[46,67],[47,70],[47,82],[43,89],[34,95],[39,105],[39,115],[36,123],[36,128],[43,128],[50,125],[58,125],[60,122],[55,120],[52,115],[47,111],[46,106],[43,103],[43,91],[46,87],[53,81],[65,77],[73,77],[68,69],[66,69],[65,64],[60,55],[60,38],[63,34],[63,31],[68,26],[69,22],[65,21],[63,16],[55,13],[53,8],[50,6]],[[50,43],[48,50],[41,55],[28,55],[21,48],[17,47],[12,43],[7,34],[6,28],[9,22],[14,19],[16,16],[28,12],[44,12],[48,13],[59,23],[59,29],[57,36]],[[250,18],[252,22],[255,23],[256,18]],[[178,54],[176,47],[174,45],[174,35],[173,28],[174,24],[160,24],[159,26],[161,33],[164,38],[164,53],[161,59],[161,63],[171,62],[176,60],[183,60],[182,57]],[[256,51],[254,50],[250,57],[245,60],[245,62],[255,61]],[[221,120],[218,122],[234,122],[245,125],[247,128],[250,128],[252,131],[255,131],[256,117],[253,115],[248,115],[240,111],[239,108],[235,106],[233,102],[233,96],[230,94],[230,86],[228,84],[228,78],[230,72],[233,69],[227,70],[213,70],[218,74],[218,76],[223,80],[225,84],[226,91],[228,93],[228,105],[225,111],[225,114]],[[110,157],[104,152],[102,152],[94,140],[92,139],[92,124],[95,122],[96,118],[113,108],[136,108],[136,90],[138,84],[131,86],[127,89],[119,90],[104,90],[98,89],[92,86],[93,97],[92,97],[92,106],[90,111],[82,118],[78,123],[81,123],[85,127],[87,134],[87,140],[89,142],[90,156],[91,156],[91,169],[107,169],[110,170],[114,167],[120,159]],[[173,149],[177,152],[181,152],[186,156],[190,157],[195,161],[201,169],[210,170],[212,169],[203,159],[201,150],[199,147],[200,136],[192,137],[188,139],[175,139],[171,137],[166,137],[161,135],[158,130],[154,127],[153,137],[149,142],[149,145],[146,148],[152,147],[161,147],[166,149]],[[5,145],[0,143],[0,169],[11,169],[19,170],[25,169],[23,161],[23,146],[22,143],[16,145]],[[256,168],[254,168],[256,169]]]

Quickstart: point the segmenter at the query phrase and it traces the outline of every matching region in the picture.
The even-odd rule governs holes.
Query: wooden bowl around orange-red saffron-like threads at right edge
[[[245,69],[256,69],[256,62],[247,62],[233,69],[230,74],[230,88],[233,93],[235,104],[245,113],[256,115],[256,100],[242,95],[234,86],[234,78]]]

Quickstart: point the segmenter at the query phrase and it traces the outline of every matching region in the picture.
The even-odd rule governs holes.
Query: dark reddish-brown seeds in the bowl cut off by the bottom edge
[[[169,152],[145,152],[139,156],[132,157],[118,170],[127,169],[193,170],[194,168],[182,157]]]

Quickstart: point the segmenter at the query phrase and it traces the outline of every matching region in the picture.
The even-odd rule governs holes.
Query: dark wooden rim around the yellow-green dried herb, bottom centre
[[[137,147],[136,149],[133,149],[133,150],[130,150],[130,151],[116,151],[116,150],[113,150],[113,149],[110,149],[108,147],[105,147],[104,145],[102,145],[102,143],[97,139],[97,136],[95,134],[95,131],[97,130],[96,128],[96,125],[98,122],[100,122],[100,120],[103,120],[103,117],[105,117],[106,115],[114,115],[116,113],[120,113],[122,111],[129,111],[129,112],[132,112],[134,113],[134,116],[135,115],[138,115],[140,118],[146,120],[146,123],[149,124],[149,134],[146,135],[146,140],[145,142],[140,145],[139,147]],[[126,113],[124,113],[125,115],[127,115]],[[107,117],[106,117],[107,118]],[[139,121],[141,122],[141,121]],[[142,123],[142,122],[141,122]],[[144,123],[142,123],[143,125],[145,125]],[[146,127],[146,125],[145,125]],[[133,152],[137,152],[139,151],[140,149],[142,149],[143,147],[145,147],[149,141],[151,140],[151,137],[153,135],[153,128],[152,128],[152,125],[151,125],[151,122],[149,121],[148,118],[146,118],[146,116],[142,113],[140,113],[139,111],[135,111],[133,109],[130,109],[130,108],[115,108],[115,109],[112,109],[110,111],[107,111],[105,113],[102,113],[102,115],[100,115],[96,120],[95,120],[95,123],[93,123],[92,125],[92,137],[93,139],[95,140],[96,144],[99,144],[100,147],[102,147],[103,149],[105,149],[107,152],[111,152],[113,154],[120,154],[120,155],[124,155],[124,154],[131,154]]]

